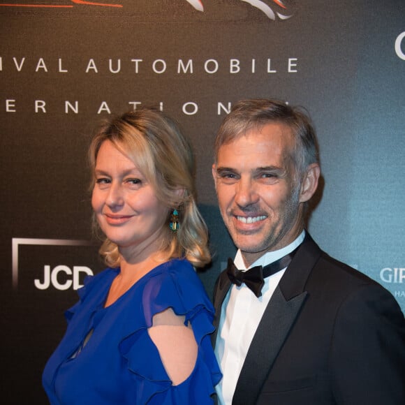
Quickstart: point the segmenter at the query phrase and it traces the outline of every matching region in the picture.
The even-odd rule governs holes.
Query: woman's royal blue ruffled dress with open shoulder
[[[79,302],[66,311],[66,334],[43,372],[50,403],[213,404],[210,396],[221,379],[209,337],[214,308],[189,261],[155,267],[105,308],[117,274],[119,269],[108,268],[88,277]],[[147,333],[154,314],[169,307],[191,323],[198,343],[196,365],[179,385],[172,385]]]

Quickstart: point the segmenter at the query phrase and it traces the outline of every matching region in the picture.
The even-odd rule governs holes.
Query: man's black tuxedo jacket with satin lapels
[[[222,272],[216,327],[229,288]],[[258,325],[233,404],[404,405],[405,321],[395,298],[307,234]]]

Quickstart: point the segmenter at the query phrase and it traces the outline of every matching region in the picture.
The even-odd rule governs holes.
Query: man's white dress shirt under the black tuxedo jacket
[[[270,251],[258,258],[251,267],[268,265],[286,256],[299,246],[305,237],[303,230],[299,237],[288,246],[278,251]],[[239,270],[246,271],[240,250],[235,256],[235,265]],[[249,267],[249,268],[251,268]],[[215,355],[220,364],[223,378],[216,385],[219,404],[231,405],[237,380],[249,346],[267,304],[286,269],[265,278],[261,297],[256,297],[244,283],[242,286],[231,286],[223,300],[221,318],[219,319],[216,336]]]

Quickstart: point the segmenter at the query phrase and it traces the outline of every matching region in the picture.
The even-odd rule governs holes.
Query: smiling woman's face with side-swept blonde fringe
[[[91,205],[109,240],[119,248],[159,246],[168,207],[135,163],[104,141],[98,151]]]

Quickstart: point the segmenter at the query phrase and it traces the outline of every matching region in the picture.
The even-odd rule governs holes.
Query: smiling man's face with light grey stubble
[[[246,265],[302,230],[293,142],[288,126],[266,124],[222,145],[212,167],[223,221]]]

